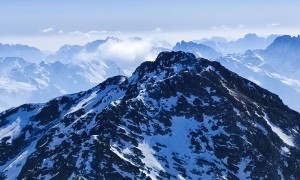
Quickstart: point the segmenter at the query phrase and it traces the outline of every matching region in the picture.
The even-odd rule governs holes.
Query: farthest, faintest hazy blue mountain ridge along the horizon
[[[193,46],[198,46],[198,50],[201,48],[203,49],[203,57],[215,59],[216,57],[220,56],[220,53],[222,53],[223,55],[227,55],[230,53],[243,53],[247,50],[265,49],[271,43],[273,43],[273,41],[277,37],[279,36],[270,35],[267,38],[264,38],[259,37],[256,34],[246,34],[243,38],[237,39],[235,41],[228,41],[222,37],[212,37],[210,39],[204,38],[201,40],[195,40],[193,42],[178,42],[173,48],[166,41],[156,41],[152,43],[153,47],[163,48],[164,50],[193,48]],[[137,37],[131,38],[129,40],[132,42],[143,41],[143,39]],[[18,57],[34,63],[39,63],[41,61],[60,61],[62,63],[69,63],[74,59],[78,59],[78,54],[80,54],[81,52],[97,52],[99,50],[99,46],[110,41],[122,42],[123,40],[114,37],[108,37],[105,40],[96,40],[85,45],[64,45],[52,54],[43,53],[41,50],[27,45],[0,44],[0,57]]]

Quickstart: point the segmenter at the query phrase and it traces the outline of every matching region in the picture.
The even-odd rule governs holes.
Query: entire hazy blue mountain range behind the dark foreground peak
[[[275,92],[291,108],[300,111],[299,103],[294,100],[299,97],[299,37],[280,36],[272,43],[275,37],[262,38],[248,34],[237,41],[214,37],[199,41],[203,44],[181,41],[174,47],[164,41],[149,42],[141,38],[123,41],[110,37],[83,46],[65,45],[50,55],[43,55],[38,49],[28,46],[2,45],[0,52],[3,52],[3,56],[16,55],[30,59],[34,54],[31,52],[36,52],[36,55],[32,55],[33,60],[1,58],[0,111],[86,90],[114,75],[129,75],[139,63],[152,61],[160,52],[171,49],[217,60],[239,75]],[[226,51],[245,52],[224,55],[222,53],[226,51],[224,48],[222,50],[222,46],[216,47],[216,43],[226,47]],[[10,54],[17,52],[20,47],[23,47],[22,53]],[[230,50],[231,47],[240,49]],[[6,48],[10,49],[7,53]],[[247,48],[254,50],[246,52]],[[38,57],[44,61],[36,62]]]

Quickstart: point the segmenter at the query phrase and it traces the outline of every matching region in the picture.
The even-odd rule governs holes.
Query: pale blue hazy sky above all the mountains
[[[107,36],[296,35],[299,8],[299,0],[10,0],[0,2],[0,38],[55,50]]]

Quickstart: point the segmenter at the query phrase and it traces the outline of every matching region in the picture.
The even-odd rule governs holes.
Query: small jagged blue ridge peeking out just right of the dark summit
[[[176,43],[173,47],[173,51],[184,51],[195,54],[197,57],[207,58],[215,60],[222,56],[221,53],[217,52],[213,48],[203,45],[197,44],[194,42],[185,42],[181,41]]]

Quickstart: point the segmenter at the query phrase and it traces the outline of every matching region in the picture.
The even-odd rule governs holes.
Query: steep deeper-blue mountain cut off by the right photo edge
[[[280,36],[260,54],[278,72],[300,80],[300,36]]]

